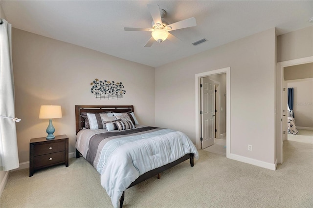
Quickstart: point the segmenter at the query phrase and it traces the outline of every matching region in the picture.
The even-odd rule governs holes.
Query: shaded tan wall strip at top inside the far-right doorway
[[[313,78],[313,62],[284,68],[284,80]]]

